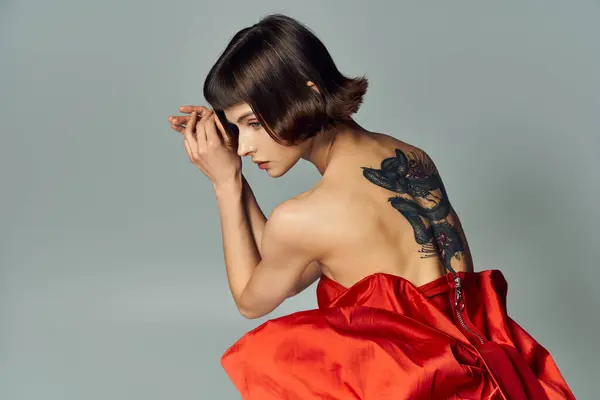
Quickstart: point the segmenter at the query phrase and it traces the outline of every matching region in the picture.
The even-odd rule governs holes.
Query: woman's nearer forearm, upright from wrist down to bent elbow
[[[249,213],[246,212],[245,202],[249,199],[246,201],[244,199],[247,197],[244,194],[246,191],[244,181],[245,179],[239,176],[232,182],[215,186],[221,217],[225,268],[229,289],[236,305],[239,305],[242,292],[260,262],[260,253],[254,238],[253,227],[249,221]],[[250,203],[252,202],[250,201]],[[253,218],[256,219],[256,215],[253,215]],[[260,226],[260,218],[256,225],[256,230],[262,232],[264,222]]]

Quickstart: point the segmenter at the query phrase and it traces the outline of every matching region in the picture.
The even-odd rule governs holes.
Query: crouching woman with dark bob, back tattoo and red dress
[[[209,72],[214,111],[170,117],[213,183],[239,312],[262,317],[319,280],[319,309],[270,320],[223,355],[243,398],[573,398],[507,316],[502,274],[473,272],[431,157],[351,118],[366,89],[306,27],[271,15]],[[242,156],[271,177],[304,159],[322,178],[267,221]]]

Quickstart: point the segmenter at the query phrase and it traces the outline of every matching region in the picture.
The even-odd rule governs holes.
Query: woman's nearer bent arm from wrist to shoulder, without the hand
[[[241,174],[214,186],[229,288],[240,314],[258,318],[295,293],[320,249],[301,223],[308,220],[305,213],[288,201],[278,206],[264,225],[261,235],[266,237],[269,231],[270,236],[268,240],[261,236],[261,258],[246,215],[243,187]]]

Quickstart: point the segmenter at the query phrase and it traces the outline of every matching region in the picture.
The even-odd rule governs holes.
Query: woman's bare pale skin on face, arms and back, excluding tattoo
[[[422,150],[352,120],[300,145],[283,146],[245,103],[224,110],[239,130],[238,148],[232,149],[211,110],[182,106],[180,111],[189,115],[169,121],[183,134],[191,163],[213,184],[229,287],[244,317],[267,315],[321,274],[349,287],[375,272],[398,275],[414,285],[445,273],[439,259],[421,256],[410,224],[386,204],[390,192],[368,182],[361,172],[361,167],[379,166],[394,148],[425,154]],[[277,206],[267,219],[242,175],[243,156],[267,161],[271,177],[282,176],[304,159],[322,178],[313,189]],[[453,210],[447,221],[459,229],[465,244],[452,267],[472,271],[466,237]]]

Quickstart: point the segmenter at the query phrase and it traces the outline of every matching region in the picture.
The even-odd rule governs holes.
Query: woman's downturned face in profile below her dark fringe
[[[310,145],[310,140],[294,146],[277,143],[247,103],[236,104],[223,111],[227,121],[238,128],[237,153],[240,157],[252,157],[252,161],[273,178],[289,171]]]

